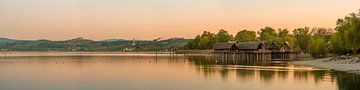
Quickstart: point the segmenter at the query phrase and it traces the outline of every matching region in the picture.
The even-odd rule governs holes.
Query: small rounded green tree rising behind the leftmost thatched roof
[[[217,34],[216,34],[216,41],[217,42],[228,42],[233,40],[233,36],[229,34],[228,31],[225,31],[224,29],[221,29]]]

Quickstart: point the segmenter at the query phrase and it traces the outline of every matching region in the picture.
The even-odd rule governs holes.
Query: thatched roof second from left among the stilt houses
[[[260,45],[263,44],[259,42],[241,42],[237,44],[240,50],[256,50]]]

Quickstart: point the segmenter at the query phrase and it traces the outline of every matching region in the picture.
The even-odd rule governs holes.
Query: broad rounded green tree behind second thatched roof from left
[[[256,32],[247,30],[238,32],[235,36],[235,40],[238,42],[259,41],[259,39],[256,37]]]

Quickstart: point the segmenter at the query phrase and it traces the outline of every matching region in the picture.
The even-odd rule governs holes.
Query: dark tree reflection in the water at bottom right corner
[[[339,72],[335,76],[339,90],[360,90],[360,75]]]

